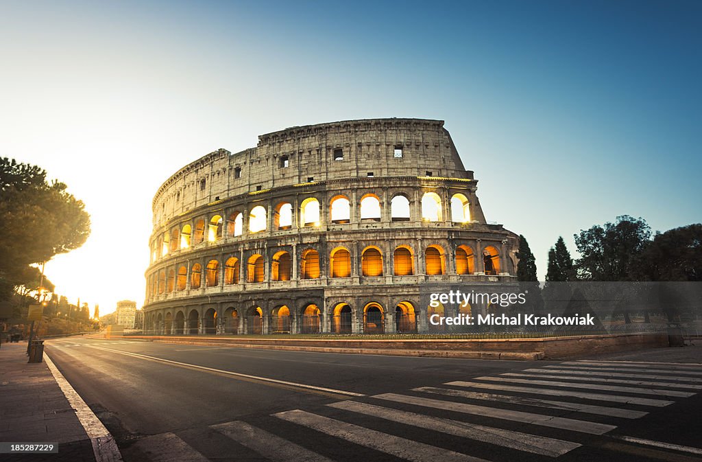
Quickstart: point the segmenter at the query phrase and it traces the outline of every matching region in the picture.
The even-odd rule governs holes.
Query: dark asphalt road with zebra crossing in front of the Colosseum
[[[46,342],[126,462],[702,461],[700,351],[525,362]]]

